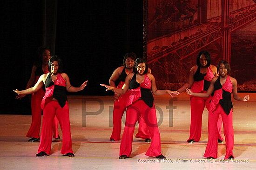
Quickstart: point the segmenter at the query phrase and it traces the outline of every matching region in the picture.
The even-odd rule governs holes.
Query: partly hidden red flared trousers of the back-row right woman
[[[190,110],[191,110],[191,120],[190,120],[190,132],[189,139],[194,139],[195,142],[198,142],[202,134],[202,113],[204,107],[206,106],[209,111],[210,100],[209,98],[195,97],[190,98]],[[222,129],[222,119],[219,116],[218,119],[218,139],[222,140],[221,129]],[[189,140],[188,139],[188,140]]]

